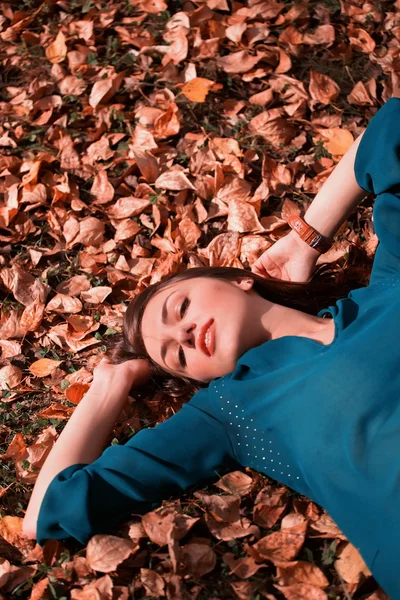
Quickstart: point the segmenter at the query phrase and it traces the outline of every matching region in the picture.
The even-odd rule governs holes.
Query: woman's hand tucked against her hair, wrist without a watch
[[[144,358],[115,365],[104,356],[93,371],[93,382],[112,382],[131,389],[146,384],[150,375],[150,363]]]

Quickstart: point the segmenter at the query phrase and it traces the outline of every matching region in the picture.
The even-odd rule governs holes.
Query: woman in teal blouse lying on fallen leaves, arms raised
[[[307,295],[316,286],[265,280],[263,288],[256,273],[236,269],[191,269],[146,289],[114,351],[125,362],[103,359],[95,369],[39,474],[26,535],[86,543],[190,485],[249,466],[322,505],[400,597],[399,122],[392,98],[304,216],[330,238],[366,192],[377,195],[369,285],[318,314]],[[293,230],[253,269],[307,281],[318,255]],[[198,391],[166,422],[101,454],[130,388],[150,374]]]

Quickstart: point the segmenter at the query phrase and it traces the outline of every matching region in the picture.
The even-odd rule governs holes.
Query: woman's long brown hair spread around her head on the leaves
[[[322,267],[318,274],[320,275],[323,270]],[[253,290],[263,298],[288,308],[302,310],[308,314],[316,314],[321,309],[334,304],[336,300],[346,297],[352,289],[367,285],[369,269],[349,267],[333,275],[333,280],[331,278],[331,280],[316,281],[316,273],[308,283],[292,283],[278,279],[264,279],[251,271],[236,267],[194,267],[186,269],[158,283],[149,285],[131,301],[124,315],[122,333],[113,336],[107,354],[114,363],[145,358],[150,363],[153,374],[151,384],[155,388],[161,388],[170,396],[193,394],[200,388],[207,387],[208,384],[191,378],[173,376],[155,363],[146,352],[141,333],[141,323],[147,303],[157,292],[178,281],[194,277],[212,277],[225,281],[237,280],[238,276],[252,277],[254,280]]]

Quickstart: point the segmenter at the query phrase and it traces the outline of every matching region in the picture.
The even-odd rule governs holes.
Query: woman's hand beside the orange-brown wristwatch
[[[290,231],[266,250],[252,265],[251,271],[266,279],[305,283],[310,281],[320,253]]]

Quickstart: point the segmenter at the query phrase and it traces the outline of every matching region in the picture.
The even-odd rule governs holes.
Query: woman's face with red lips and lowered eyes
[[[150,358],[173,375],[203,382],[233,371],[259,338],[252,304],[260,297],[250,292],[252,285],[251,277],[235,282],[195,277],[160,290],[142,319]]]

